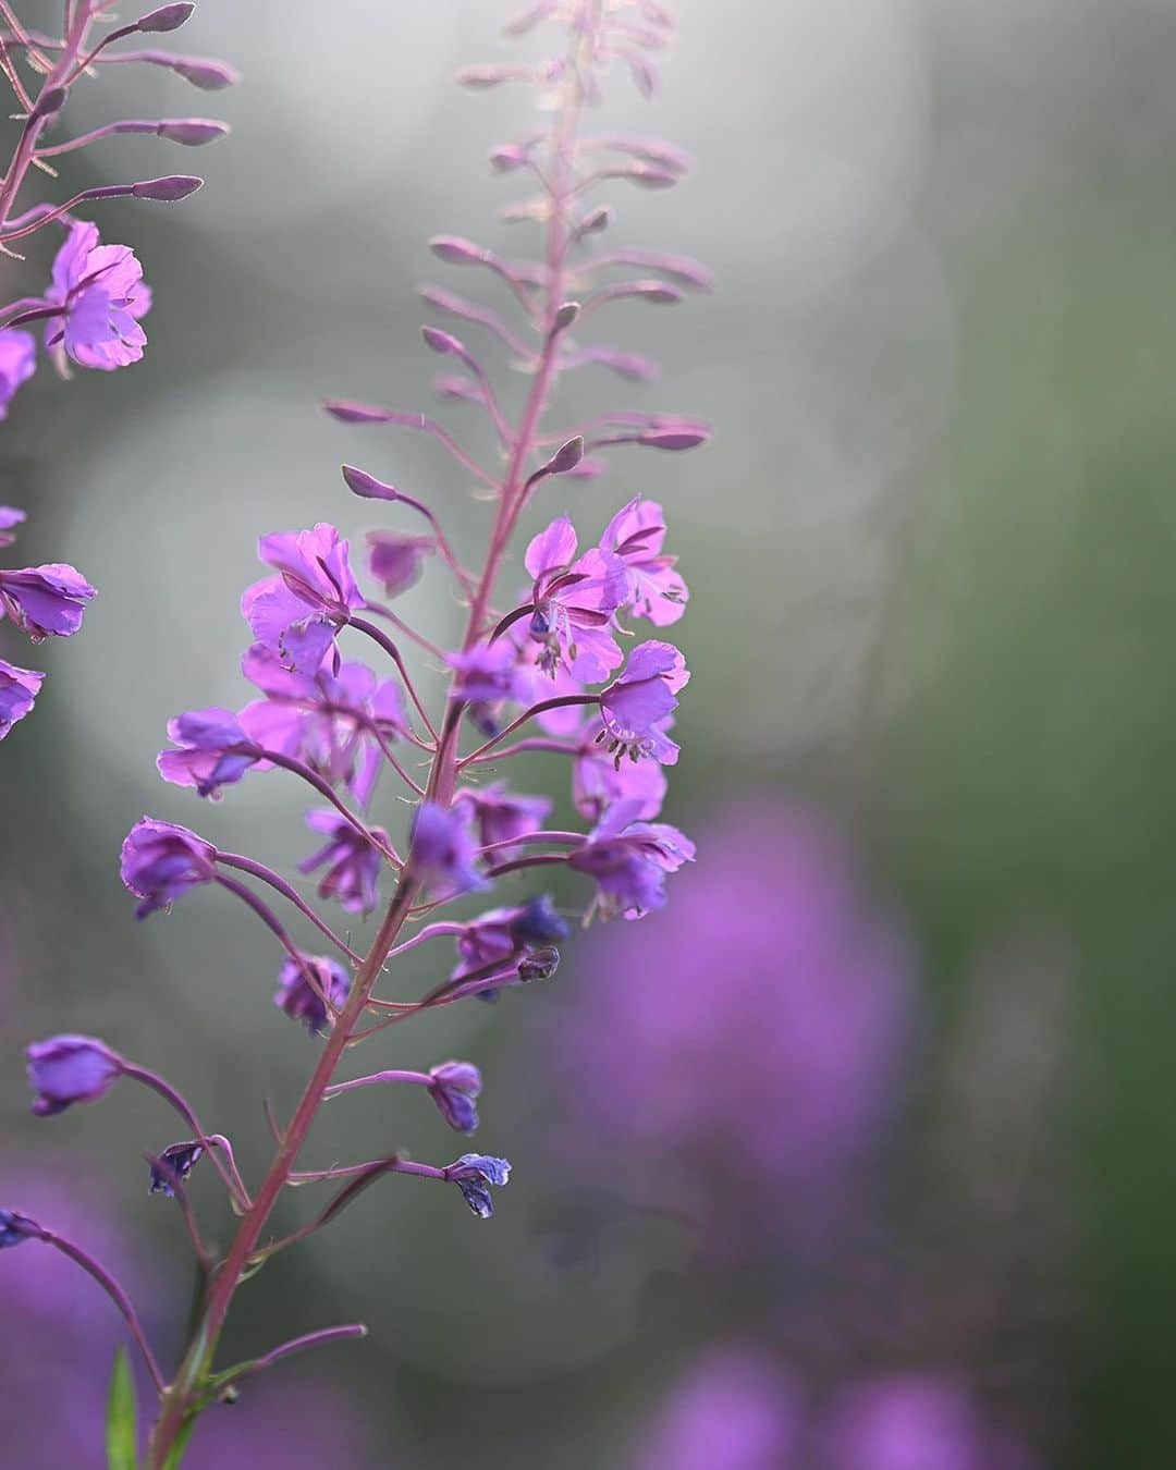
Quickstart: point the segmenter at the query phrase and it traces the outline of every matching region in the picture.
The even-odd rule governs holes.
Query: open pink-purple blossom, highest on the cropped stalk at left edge
[[[138,320],[151,306],[143,266],[129,245],[100,245],[97,225],[71,225],[46,301],[63,307],[46,329],[46,347],[63,347],[81,368],[112,372],[143,357],[147,335]]]

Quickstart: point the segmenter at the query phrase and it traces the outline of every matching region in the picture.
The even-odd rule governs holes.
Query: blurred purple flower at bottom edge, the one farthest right
[[[842,1389],[823,1427],[828,1470],[1028,1470],[963,1383],[894,1373]]]

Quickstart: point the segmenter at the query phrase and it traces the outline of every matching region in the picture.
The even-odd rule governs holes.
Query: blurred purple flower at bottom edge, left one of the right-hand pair
[[[720,1348],[670,1391],[632,1470],[801,1470],[803,1435],[795,1377],[761,1352]]]

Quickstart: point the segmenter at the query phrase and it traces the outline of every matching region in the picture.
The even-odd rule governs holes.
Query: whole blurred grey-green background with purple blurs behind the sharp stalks
[[[700,860],[664,914],[570,944],[554,983],[376,1044],[373,1064],[482,1066],[476,1147],[512,1158],[510,1189],[481,1225],[388,1180],[269,1266],[225,1361],[356,1317],[372,1336],[209,1416],[197,1470],[1172,1463],[1176,7],[676,10],[663,97],[617,75],[604,129],[694,169],[619,184],[616,240],[700,256],[716,290],[617,309],[612,340],[660,382],[569,387],[585,412],[704,416],[714,441],[617,454],[544,509],[594,539],[634,494],[666,506],[694,673],[666,814]],[[21,563],[100,588],[82,637],[35,659],[4,632],[50,679],[0,759],[0,1202],[122,1264],[172,1345],[190,1267],[141,1163],[171,1117],[122,1088],[37,1123],[21,1048],[104,1036],[247,1173],[262,1098],[297,1097],[313,1044],[270,1004],[273,942],[210,892],[137,926],[118,847],[150,811],[287,869],[307,851],[294,784],[209,807],[153,761],[171,714],[247,697],[259,534],[416,529],[365,514],[343,459],[478,545],[485,506],[428,440],[318,403],[431,409],[415,285],[470,282],[425,240],[531,247],[485,162],[528,94],[451,82],[514,54],[500,22],[487,0],[204,0],[182,49],[240,88],[118,69],[71,103],[76,131],[234,128],[193,163],[110,140],[74,168],[207,187],[94,209],[154,287],[147,357],[43,370],[0,428]],[[442,644],[460,616],[440,575],[401,612]],[[520,786],[557,779],[537,760]],[[404,994],[435,979],[406,966]],[[416,1098],[359,1095],[309,1152],[398,1145],[460,1151]],[[193,1192],[223,1233],[213,1179]],[[0,1463],[100,1464],[118,1333],[31,1255],[0,1260]]]

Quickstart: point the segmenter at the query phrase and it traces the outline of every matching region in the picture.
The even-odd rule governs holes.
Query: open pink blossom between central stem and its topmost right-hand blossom
[[[607,679],[623,660],[609,628],[625,601],[625,563],[598,547],[576,560],[575,528],[560,516],[531,541],[525,564],[535,579],[528,632],[541,645],[539,667],[582,684]]]

